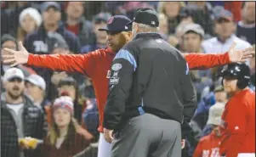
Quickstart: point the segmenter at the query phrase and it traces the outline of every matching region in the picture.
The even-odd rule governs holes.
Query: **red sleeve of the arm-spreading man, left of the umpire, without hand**
[[[67,72],[77,71],[92,77],[94,68],[100,60],[100,51],[96,50],[87,54],[29,54],[28,65],[50,70]]]

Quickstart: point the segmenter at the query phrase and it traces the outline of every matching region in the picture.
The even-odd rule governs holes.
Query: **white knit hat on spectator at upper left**
[[[33,20],[36,21],[37,26],[40,26],[42,24],[42,16],[41,14],[37,11],[36,8],[26,8],[22,10],[20,13],[20,23],[22,20],[24,20],[26,14],[30,15]]]

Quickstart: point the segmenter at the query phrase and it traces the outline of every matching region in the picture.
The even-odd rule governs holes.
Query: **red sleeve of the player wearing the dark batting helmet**
[[[237,157],[246,134],[247,112],[245,106],[246,104],[241,101],[236,101],[236,104],[230,104],[227,115],[225,115],[225,123],[227,125],[222,131],[225,138],[222,139],[220,144],[220,154],[225,153],[228,157]]]

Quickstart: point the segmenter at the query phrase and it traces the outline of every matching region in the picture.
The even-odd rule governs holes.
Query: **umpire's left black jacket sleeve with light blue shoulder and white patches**
[[[106,129],[117,129],[125,112],[125,102],[132,87],[134,70],[137,64],[134,56],[121,49],[111,66],[110,89],[105,106],[103,126]]]

